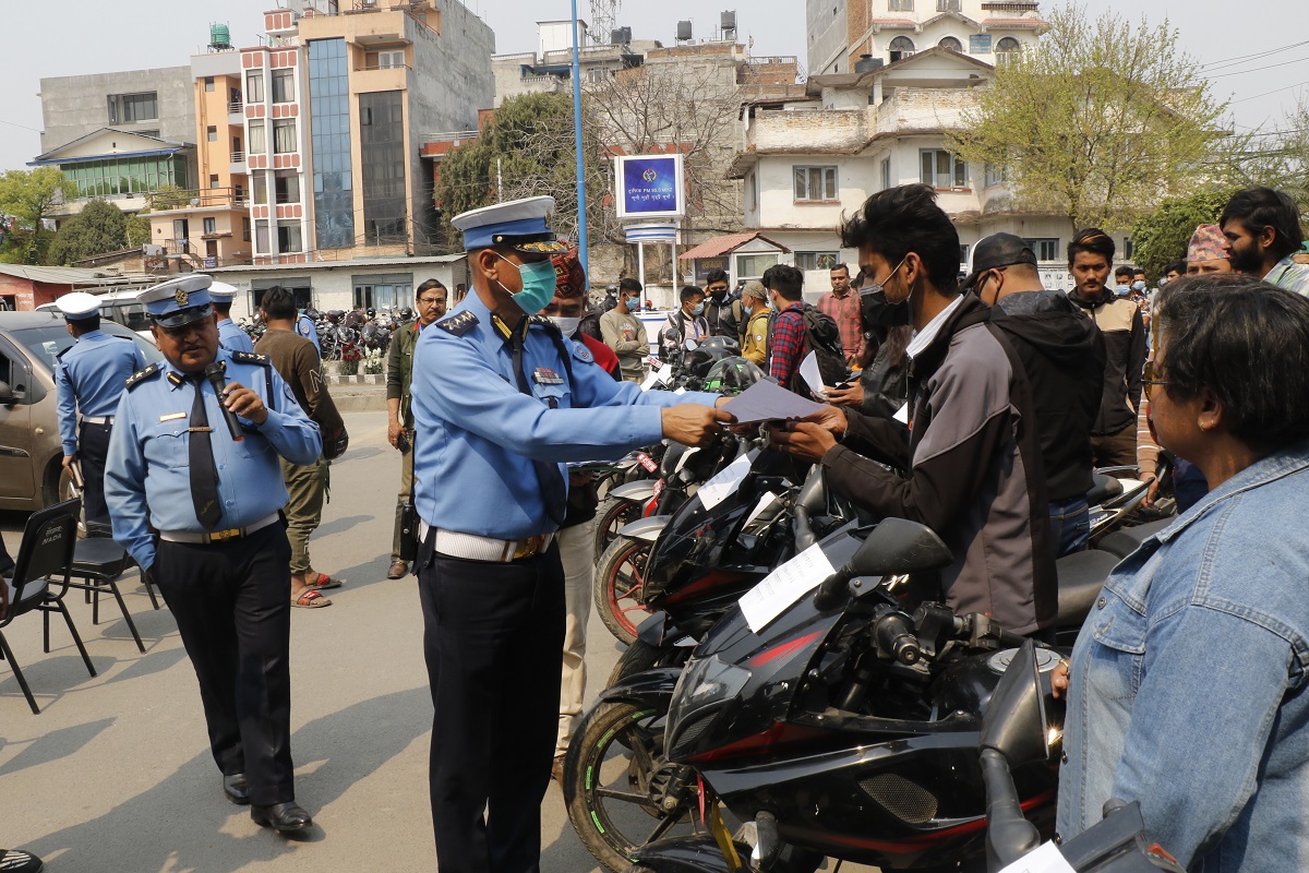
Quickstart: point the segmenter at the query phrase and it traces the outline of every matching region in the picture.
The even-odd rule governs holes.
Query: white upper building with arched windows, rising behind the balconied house
[[[937,47],[988,64],[1047,30],[1038,0],[805,0],[812,76],[852,73]]]

